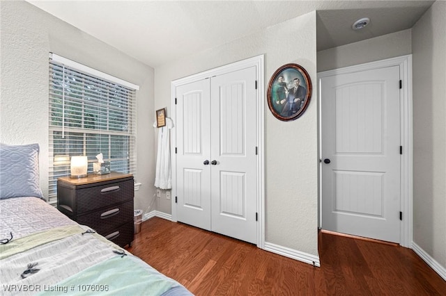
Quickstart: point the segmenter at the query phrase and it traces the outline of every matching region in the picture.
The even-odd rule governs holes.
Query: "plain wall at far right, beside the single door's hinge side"
[[[446,276],[446,2],[412,28],[413,240]]]

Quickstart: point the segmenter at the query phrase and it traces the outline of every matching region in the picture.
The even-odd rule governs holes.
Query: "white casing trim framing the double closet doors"
[[[187,83],[192,83],[194,81],[199,81],[201,79],[208,79],[212,76],[217,76],[221,74],[226,74],[229,72],[234,72],[239,69],[245,69],[247,67],[256,67],[256,97],[259,102],[256,108],[256,135],[257,135],[257,213],[258,215],[258,223],[257,223],[257,247],[264,249],[265,248],[265,161],[264,161],[264,125],[265,125],[265,99],[264,99],[264,55],[254,56],[252,58],[247,58],[245,60],[240,60],[236,63],[231,63],[229,65],[223,65],[221,67],[217,67],[214,69],[209,69],[204,72],[200,72],[197,74],[192,74],[190,76],[176,79],[171,81],[171,116],[176,120],[176,107],[175,107],[175,99],[176,99],[176,88],[180,85],[185,85]],[[171,218],[173,222],[177,222],[177,213],[176,213],[176,203],[175,197],[177,196],[177,188],[176,188],[176,157],[175,157],[175,147],[176,145],[176,129],[171,130],[171,164],[172,164],[172,198],[171,198]]]

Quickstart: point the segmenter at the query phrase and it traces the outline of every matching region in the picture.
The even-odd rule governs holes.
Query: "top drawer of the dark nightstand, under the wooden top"
[[[133,180],[77,189],[77,213],[133,199]]]

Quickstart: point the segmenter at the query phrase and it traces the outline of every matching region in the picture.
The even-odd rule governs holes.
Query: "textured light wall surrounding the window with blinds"
[[[154,70],[24,1],[0,1],[0,142],[40,145],[40,186],[48,193],[48,54],[50,51],[140,86],[137,92],[135,207],[153,196]]]

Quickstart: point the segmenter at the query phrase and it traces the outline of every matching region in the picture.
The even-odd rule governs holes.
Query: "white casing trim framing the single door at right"
[[[318,156],[321,156],[321,79],[338,74],[348,74],[369,69],[399,66],[399,76],[402,81],[399,92],[400,99],[400,142],[403,147],[401,154],[401,212],[403,220],[400,223],[400,245],[410,247],[413,241],[413,97],[412,97],[412,55],[387,58],[376,62],[364,63],[350,67],[318,72]],[[322,225],[322,168],[318,167],[318,227]]]

